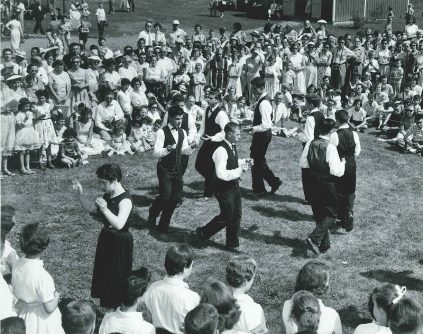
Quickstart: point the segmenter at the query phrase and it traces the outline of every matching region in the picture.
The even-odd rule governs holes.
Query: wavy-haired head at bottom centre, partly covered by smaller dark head
[[[219,332],[232,329],[241,316],[241,311],[232,290],[223,282],[211,280],[201,298],[201,303],[209,303],[219,313]]]

